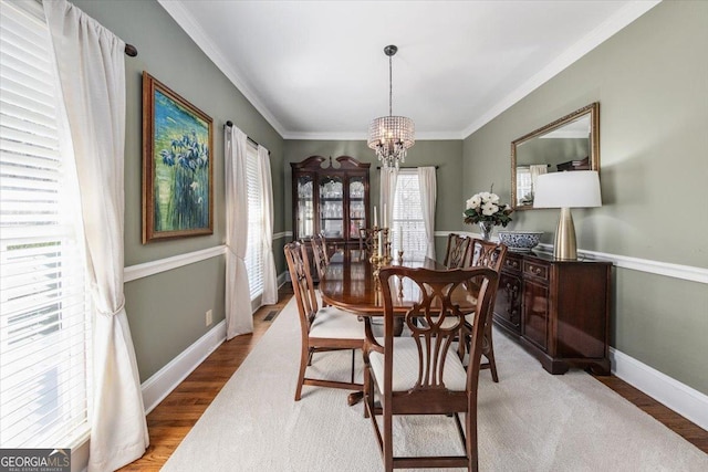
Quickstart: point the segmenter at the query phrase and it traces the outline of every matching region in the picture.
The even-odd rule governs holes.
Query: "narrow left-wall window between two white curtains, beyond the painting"
[[[246,271],[251,289],[251,302],[263,293],[263,209],[261,206],[261,178],[258,151],[248,146],[246,156],[246,180],[248,192],[248,244],[246,247]]]

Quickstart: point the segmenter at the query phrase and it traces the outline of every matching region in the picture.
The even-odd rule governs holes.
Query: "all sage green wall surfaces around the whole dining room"
[[[363,140],[283,140],[157,2],[74,3],[139,52],[126,57],[126,266],[223,244],[222,126],[228,119],[271,150],[275,233],[292,231],[289,162],[351,155],[376,167]],[[708,2],[663,2],[465,140],[416,143],[406,165],[439,166],[437,231],[476,231],[462,223],[465,200],[492,183],[509,201],[513,139],[600,102],[604,206],[573,212],[579,247],[708,268],[707,19]],[[140,243],[144,70],[214,118],[214,235]],[[371,177],[372,204],[377,204],[378,172]],[[510,229],[541,229],[543,242],[552,241],[555,211],[519,211],[513,218]],[[273,244],[278,273],[285,270],[283,242]],[[436,242],[440,254],[445,238]],[[209,329],[207,310],[214,310],[215,323],[223,319],[223,285],[222,256],[126,283],[143,381]],[[616,269],[614,295],[612,345],[708,394],[706,285]]]

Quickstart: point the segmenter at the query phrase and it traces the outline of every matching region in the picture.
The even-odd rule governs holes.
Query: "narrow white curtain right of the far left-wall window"
[[[278,274],[273,259],[273,179],[268,149],[258,146],[258,174],[261,178],[261,209],[263,211],[263,305],[278,303]]]

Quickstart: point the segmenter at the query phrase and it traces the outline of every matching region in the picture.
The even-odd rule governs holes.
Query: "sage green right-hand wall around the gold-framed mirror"
[[[708,2],[663,2],[465,139],[465,193],[509,198],[510,143],[600,102],[603,207],[573,210],[583,250],[708,268]],[[555,210],[514,213],[543,230]],[[612,345],[708,394],[706,284],[615,269]]]

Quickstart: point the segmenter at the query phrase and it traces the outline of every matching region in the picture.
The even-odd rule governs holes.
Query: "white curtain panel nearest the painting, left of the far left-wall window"
[[[248,192],[247,136],[236,126],[223,128],[226,172],[226,338],[253,332],[251,293],[246,272]]]

